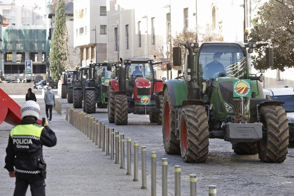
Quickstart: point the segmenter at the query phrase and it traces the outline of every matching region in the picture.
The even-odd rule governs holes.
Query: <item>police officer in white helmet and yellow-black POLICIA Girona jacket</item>
[[[32,196],[45,195],[46,164],[42,146],[55,146],[56,136],[47,119],[43,126],[37,124],[40,112],[38,103],[26,101],[21,107],[20,125],[10,132],[4,168],[8,170],[9,177],[16,177],[14,195],[26,195],[28,185]]]

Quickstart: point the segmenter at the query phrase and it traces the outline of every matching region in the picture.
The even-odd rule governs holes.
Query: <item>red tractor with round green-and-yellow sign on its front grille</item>
[[[128,123],[128,113],[149,114],[151,123],[162,121],[162,86],[166,78],[156,79],[152,59],[122,59],[118,77],[108,88],[108,121],[116,125]],[[171,67],[168,62],[167,67]],[[107,66],[111,70],[111,66]]]

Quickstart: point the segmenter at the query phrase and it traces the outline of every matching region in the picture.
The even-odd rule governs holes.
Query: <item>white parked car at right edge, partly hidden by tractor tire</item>
[[[264,98],[273,101],[284,101],[282,104],[287,112],[289,124],[289,142],[294,143],[294,88],[285,86],[284,88],[265,88],[263,89]]]

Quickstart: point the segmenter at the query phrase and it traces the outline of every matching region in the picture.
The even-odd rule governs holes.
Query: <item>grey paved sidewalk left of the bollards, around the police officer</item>
[[[24,99],[14,100],[19,105],[24,103]],[[44,101],[38,99],[37,103],[42,110],[41,117],[46,116]],[[126,175],[125,169],[119,169],[110,156],[65,121],[65,115],[53,110],[49,126],[56,133],[57,145],[43,147],[47,163],[46,195],[151,195],[149,190],[141,190],[141,181],[133,182],[133,175]],[[11,128],[5,122],[0,125],[0,195],[13,195],[15,187],[15,178],[9,178],[3,169]],[[31,195],[29,189],[27,195]]]

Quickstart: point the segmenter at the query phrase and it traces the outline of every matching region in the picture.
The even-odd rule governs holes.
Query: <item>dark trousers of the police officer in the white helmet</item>
[[[32,196],[45,196],[46,185],[42,177],[36,179],[16,178],[14,196],[25,196],[29,185]]]

